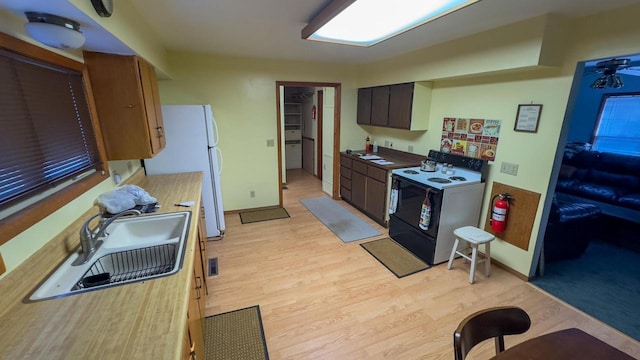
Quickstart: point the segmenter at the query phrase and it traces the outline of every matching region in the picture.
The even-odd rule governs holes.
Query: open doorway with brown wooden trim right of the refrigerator
[[[305,101],[311,98],[312,101]],[[341,84],[276,81],[279,203],[286,170],[304,168],[322,180],[323,191],[337,199],[339,194],[339,149]],[[303,105],[305,104],[306,105]],[[299,110],[296,110],[299,109]],[[296,111],[300,112],[300,136],[295,131]],[[306,129],[305,129],[306,127]],[[300,163],[296,145],[299,143]],[[291,149],[289,149],[290,147]],[[293,153],[287,158],[287,152]]]

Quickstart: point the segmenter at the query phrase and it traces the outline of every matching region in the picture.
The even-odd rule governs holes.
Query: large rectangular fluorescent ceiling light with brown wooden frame
[[[372,46],[478,1],[333,0],[302,29],[302,38]]]

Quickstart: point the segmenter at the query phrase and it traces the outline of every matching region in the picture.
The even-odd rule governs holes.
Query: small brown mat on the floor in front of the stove
[[[389,238],[369,241],[360,244],[360,246],[398,278],[415,274],[431,267]]]

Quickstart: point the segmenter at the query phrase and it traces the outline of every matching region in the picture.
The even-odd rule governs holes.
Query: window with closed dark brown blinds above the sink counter
[[[82,73],[0,50],[0,210],[101,166]]]

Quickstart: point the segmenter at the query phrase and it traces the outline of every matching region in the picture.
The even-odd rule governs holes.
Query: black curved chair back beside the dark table
[[[531,327],[529,315],[519,307],[485,309],[467,316],[453,334],[455,360],[464,360],[471,349],[495,338],[496,354],[504,351],[504,336],[522,334]]]

